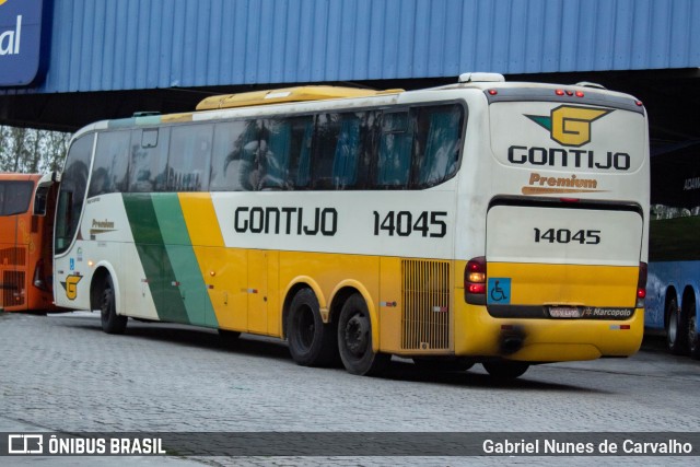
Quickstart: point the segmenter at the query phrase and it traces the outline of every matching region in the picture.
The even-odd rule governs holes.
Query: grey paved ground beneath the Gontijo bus
[[[632,359],[542,365],[500,385],[480,366],[431,374],[396,360],[382,378],[306,369],[291,361],[281,342],[245,337],[225,349],[215,332],[185,326],[130,320],[126,336],[108,336],[89,313],[0,314],[0,432],[700,432],[695,396],[700,363],[667,355],[655,340]],[[556,460],[130,458],[140,465],[495,465],[505,459]],[[696,459],[604,458],[629,465]],[[36,459],[5,457],[0,464],[5,460]],[[49,464],[77,460],[122,465],[125,458],[51,457]],[[590,460],[568,457],[565,464]]]

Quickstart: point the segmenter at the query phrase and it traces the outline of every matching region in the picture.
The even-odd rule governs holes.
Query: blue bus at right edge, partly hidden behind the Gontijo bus
[[[700,359],[700,144],[651,157],[650,330],[666,331],[668,350]]]

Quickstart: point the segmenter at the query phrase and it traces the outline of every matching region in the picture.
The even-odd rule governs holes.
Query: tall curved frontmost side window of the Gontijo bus
[[[92,143],[93,135],[86,135],[73,141],[68,151],[56,213],[55,247],[57,254],[68,249],[78,231],[78,222],[88,187]]]

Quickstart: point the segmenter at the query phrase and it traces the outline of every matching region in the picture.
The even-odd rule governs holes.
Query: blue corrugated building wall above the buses
[[[700,66],[693,0],[54,0],[52,15],[44,82],[0,94]]]

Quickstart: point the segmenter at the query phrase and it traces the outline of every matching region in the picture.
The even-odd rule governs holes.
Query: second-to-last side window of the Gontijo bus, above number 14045
[[[408,112],[385,113],[376,161],[377,187],[406,188],[411,173],[412,143]]]

